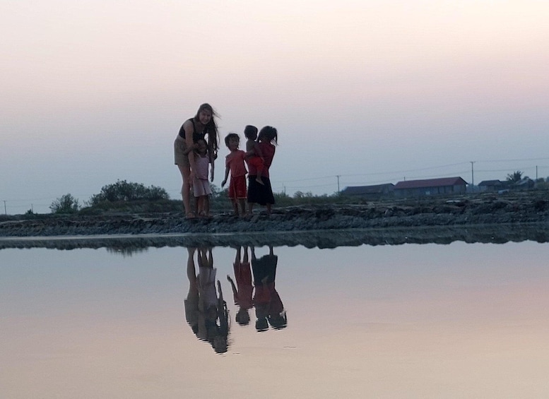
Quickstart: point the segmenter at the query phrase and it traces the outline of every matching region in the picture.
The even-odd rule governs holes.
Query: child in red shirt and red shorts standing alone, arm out
[[[238,149],[240,137],[237,133],[229,133],[225,137],[225,145],[229,148],[230,154],[225,157],[225,179],[221,182],[221,186],[227,183],[230,172],[229,198],[232,201],[232,208],[238,216],[240,205],[242,216],[246,216],[246,174],[248,173],[244,165],[246,153]]]

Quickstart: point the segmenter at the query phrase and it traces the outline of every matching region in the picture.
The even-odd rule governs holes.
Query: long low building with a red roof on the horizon
[[[437,196],[440,194],[464,194],[467,182],[461,177],[442,177],[439,179],[405,180],[394,186],[397,197]]]

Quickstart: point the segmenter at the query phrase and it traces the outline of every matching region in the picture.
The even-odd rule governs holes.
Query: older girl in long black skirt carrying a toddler
[[[252,215],[254,204],[266,206],[267,216],[271,216],[271,205],[275,203],[273,189],[271,188],[271,179],[269,178],[268,169],[271,167],[273,157],[275,155],[276,145],[278,141],[278,131],[273,126],[264,126],[259,131],[259,148],[264,158],[264,168],[261,172],[261,180],[263,184],[257,181],[257,169],[254,165],[248,165],[248,213]]]

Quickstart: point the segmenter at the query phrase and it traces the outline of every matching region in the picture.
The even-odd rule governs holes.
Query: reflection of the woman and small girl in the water
[[[189,293],[185,299],[185,318],[196,337],[210,343],[217,353],[228,350],[229,318],[220,282],[217,282],[210,248],[188,248],[187,278]],[[197,254],[199,274],[196,275],[194,254]]]

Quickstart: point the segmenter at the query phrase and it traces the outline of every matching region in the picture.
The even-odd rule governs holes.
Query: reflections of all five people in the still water
[[[268,246],[268,254],[259,258],[254,246],[236,246],[235,249],[235,261],[232,263],[234,280],[227,275],[235,305],[238,306],[235,321],[240,326],[248,326],[249,311],[253,307],[258,332],[285,328],[288,318],[275,287],[278,256],[273,254],[273,246]],[[210,343],[217,353],[227,352],[230,320],[221,283],[216,279],[212,248],[189,247],[187,251],[189,293],[184,300],[185,318],[199,340]],[[198,275],[196,264],[199,266]]]

